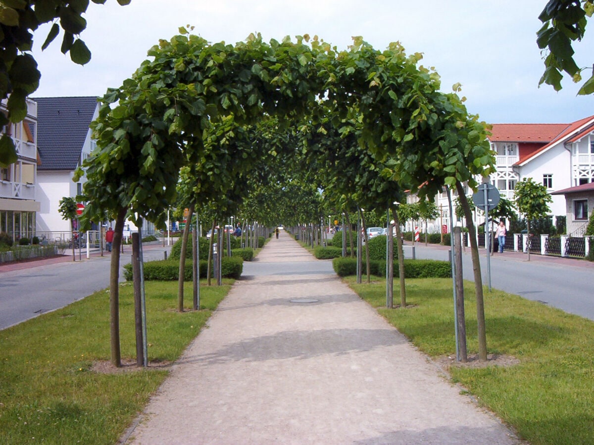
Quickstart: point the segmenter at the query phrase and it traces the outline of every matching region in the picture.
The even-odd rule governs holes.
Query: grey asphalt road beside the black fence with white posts
[[[412,258],[412,245],[405,246],[405,258]],[[418,244],[418,259],[448,260],[449,247]],[[480,250],[483,284],[488,285],[485,249]],[[491,256],[491,287],[528,300],[540,301],[566,312],[594,320],[594,263],[586,260],[554,258],[521,252]],[[470,248],[462,254],[464,279],[474,281]]]

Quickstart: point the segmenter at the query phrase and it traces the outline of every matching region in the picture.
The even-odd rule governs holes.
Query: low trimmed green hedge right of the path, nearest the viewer
[[[340,276],[356,275],[356,258],[334,258],[332,260],[334,272]],[[369,268],[372,275],[386,276],[385,260],[370,260]],[[366,271],[365,262],[363,269]],[[394,262],[394,277],[399,276],[398,263]],[[406,278],[450,278],[451,265],[447,261],[438,260],[406,260],[405,259]]]

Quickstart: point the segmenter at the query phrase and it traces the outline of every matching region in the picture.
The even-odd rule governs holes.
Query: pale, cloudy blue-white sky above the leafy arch
[[[546,0],[116,0],[91,3],[81,37],[93,53],[85,66],[60,52],[61,38],[45,51],[40,46],[49,27],[35,34],[33,54],[42,72],[33,96],[103,96],[119,87],[147,59],[159,39],[178,28],[194,26],[209,42],[235,43],[249,33],[264,40],[317,34],[346,49],[351,36],[363,36],[375,49],[399,41],[406,53],[424,53],[442,90],[462,84],[466,106],[489,123],[569,123],[594,115],[594,96],[576,96],[577,86],[564,77],[563,90],[538,87],[544,71],[536,46],[538,15]],[[594,19],[593,19],[594,20]],[[594,30],[578,45],[579,66],[594,63]],[[585,77],[585,76],[584,76]]]

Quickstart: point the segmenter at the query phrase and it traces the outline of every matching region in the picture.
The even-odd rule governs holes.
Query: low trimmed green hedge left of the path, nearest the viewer
[[[208,261],[200,260],[198,273],[200,278],[206,278]],[[239,256],[224,256],[221,263],[222,274],[226,278],[238,279],[244,270],[244,261]],[[179,278],[179,260],[149,261],[143,264],[144,279],[147,281],[177,281]],[[124,276],[132,281],[132,265],[124,266]],[[186,261],[184,281],[192,279],[192,262]]]

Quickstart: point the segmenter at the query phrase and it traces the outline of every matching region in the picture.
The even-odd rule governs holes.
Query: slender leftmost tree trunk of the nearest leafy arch
[[[124,232],[124,220],[127,212],[128,209],[121,208],[116,216],[109,268],[109,334],[111,344],[111,363],[118,368],[122,365],[122,356],[119,348],[119,259],[122,233]]]

